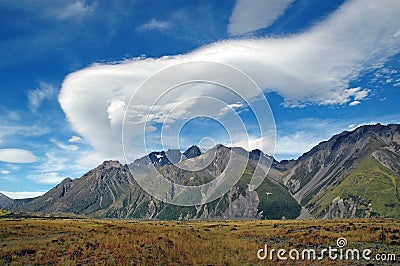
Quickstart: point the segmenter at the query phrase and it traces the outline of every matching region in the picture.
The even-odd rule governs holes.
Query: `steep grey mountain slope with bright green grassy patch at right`
[[[362,126],[303,154],[283,177],[315,217],[400,217],[400,125]]]

